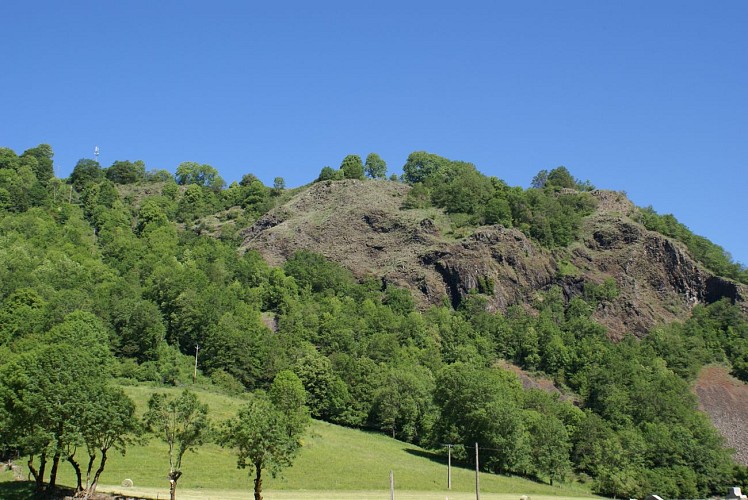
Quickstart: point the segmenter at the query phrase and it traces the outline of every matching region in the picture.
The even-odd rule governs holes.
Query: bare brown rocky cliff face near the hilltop
[[[422,304],[459,305],[475,290],[504,311],[558,285],[567,298],[585,282],[615,280],[620,291],[596,319],[611,337],[641,335],[660,322],[684,318],[699,303],[723,297],[745,304],[746,287],[714,276],[676,241],[648,231],[620,193],[596,191],[598,208],[569,248],[541,248],[517,229],[481,227],[465,235],[436,209],[402,210],[408,187],[386,181],[312,185],[244,230],[242,247],[281,264],[311,250],[359,277],[405,286]]]

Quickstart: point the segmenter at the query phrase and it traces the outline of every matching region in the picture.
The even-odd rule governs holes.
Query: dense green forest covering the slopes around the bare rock
[[[572,300],[551,288],[505,314],[486,311],[487,282],[456,310],[420,309],[408,290],[354,279],[314,252],[281,267],[238,252],[239,229],[304,189],[280,177],[226,186],[209,165],[172,175],[84,159],[59,179],[52,158],[47,145],[0,149],[0,452],[42,477],[46,462],[52,474],[75,466],[83,443],[101,448],[86,429],[113,413],[102,417],[97,402],[132,413],[117,384],[191,383],[199,346],[201,380],[220,390],[268,391],[291,373],[314,418],[434,450],[453,444],[465,461],[477,442],[491,472],[577,478],[619,497],[705,497],[746,479],[689,391],[708,363],[748,381],[748,320],[727,301],[617,343],[591,319],[618,293],[614,281]],[[564,167],[528,189],[424,152],[402,170],[390,180],[411,186],[403,210],[516,227],[549,249],[573,242],[595,208],[593,186]],[[384,179],[386,164],[350,155],[315,182],[343,178]],[[234,224],[215,235],[203,218],[217,213]],[[745,267],[673,216],[648,208],[640,219],[748,283]],[[505,363],[561,391],[524,390]],[[132,432],[125,420],[121,433]]]

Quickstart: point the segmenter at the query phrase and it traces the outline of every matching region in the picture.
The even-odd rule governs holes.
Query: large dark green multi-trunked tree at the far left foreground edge
[[[0,437],[5,446],[29,456],[27,465],[37,491],[45,489],[48,464],[46,490],[52,491],[60,460],[73,463],[85,419],[97,411],[97,396],[105,390],[107,354],[106,333],[98,318],[76,312],[53,329],[40,347],[2,366],[0,403],[4,411],[0,414],[6,413],[5,423],[10,423],[14,432],[7,436],[0,433]],[[36,456],[38,466],[34,465]]]

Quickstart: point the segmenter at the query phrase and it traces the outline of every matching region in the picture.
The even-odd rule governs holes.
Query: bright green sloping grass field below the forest
[[[153,391],[179,392],[177,389],[153,389],[126,386],[124,390],[142,412]],[[242,405],[231,398],[196,390],[201,401],[210,407],[213,422],[233,416]],[[309,499],[389,499],[389,474],[393,471],[396,498],[446,499],[475,498],[474,471],[453,466],[452,490],[447,489],[447,466],[443,457],[386,436],[347,429],[314,421],[304,437],[303,447],[294,465],[272,478],[263,479],[266,498]],[[183,461],[184,475],[179,480],[180,499],[249,498],[252,481],[247,470],[237,469],[230,450],[214,444],[188,452]],[[151,498],[168,498],[168,456],[165,443],[153,438],[144,446],[132,446],[123,457],[110,455],[101,477],[101,491],[116,491]],[[9,473],[0,480],[7,480]],[[74,483],[72,468],[61,465],[60,483]],[[122,488],[130,479],[134,486]],[[543,497],[590,497],[583,485],[548,486],[526,479],[481,474],[481,498],[519,499],[529,495]],[[0,492],[0,495],[2,493]]]

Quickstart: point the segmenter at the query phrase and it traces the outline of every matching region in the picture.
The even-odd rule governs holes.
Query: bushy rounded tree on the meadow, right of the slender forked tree
[[[301,381],[281,372],[270,388],[270,397],[255,395],[227,422],[222,444],[236,449],[237,466],[254,472],[254,498],[262,500],[262,471],[273,477],[293,463],[308,424]]]

